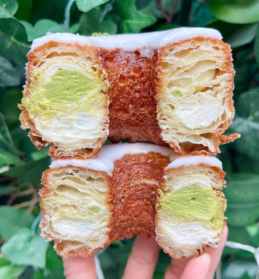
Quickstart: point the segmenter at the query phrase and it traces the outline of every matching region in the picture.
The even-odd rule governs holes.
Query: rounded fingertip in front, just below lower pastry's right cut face
[[[180,279],[206,279],[211,258],[208,253],[203,253],[198,258],[193,258],[186,264]]]

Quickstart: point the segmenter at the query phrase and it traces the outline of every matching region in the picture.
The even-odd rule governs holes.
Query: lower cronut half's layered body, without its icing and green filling
[[[40,190],[41,235],[54,240],[54,248],[64,257],[88,256],[136,234],[156,238],[174,258],[196,257],[206,245],[217,247],[225,225],[226,200],[221,193],[225,173],[205,164],[165,170],[168,163],[166,156],[149,153],[125,155],[115,162],[111,175],[73,166],[46,170]],[[166,212],[162,196],[195,183],[204,184],[214,195],[219,213],[206,221],[180,213],[179,220],[185,221],[179,221],[174,213]],[[194,205],[195,198],[193,193]],[[207,198],[202,204],[206,202]],[[219,220],[217,228],[213,218]],[[168,231],[168,225],[173,229]],[[189,233],[194,231],[190,243]],[[178,241],[174,235],[179,233]]]

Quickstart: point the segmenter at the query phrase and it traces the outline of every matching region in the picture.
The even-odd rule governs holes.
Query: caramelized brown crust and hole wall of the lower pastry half
[[[102,173],[106,175],[108,182],[109,190],[107,195],[107,206],[109,206],[112,215],[109,219],[109,240],[97,249],[88,251],[87,247],[84,246],[74,250],[71,249],[64,254],[64,247],[69,247],[70,245],[75,246],[75,244],[82,243],[71,240],[55,239],[52,235],[45,233],[43,230],[47,224],[46,216],[48,215],[48,212],[46,212],[41,204],[42,222],[40,223],[40,227],[42,228],[42,237],[45,237],[48,241],[54,240],[54,248],[56,249],[57,254],[64,257],[89,256],[94,252],[109,246],[113,241],[130,238],[136,234],[140,234],[144,238],[155,238],[156,204],[159,196],[157,190],[161,187],[162,189],[164,188],[164,175],[168,175],[169,173],[178,175],[182,168],[179,167],[165,171],[164,168],[169,163],[169,159],[160,153],[125,155],[122,159],[115,162],[112,176]],[[210,168],[210,171],[214,173],[214,176],[219,182],[219,188],[217,190],[220,193],[221,188],[225,187],[226,183],[224,180],[225,172],[218,167],[211,167],[206,164],[200,165]],[[87,170],[81,167],[76,167],[76,169],[82,171]],[[45,187],[39,190],[41,199],[51,194],[51,190],[48,188],[49,176],[51,176],[51,173],[54,170],[55,169],[48,169],[42,175],[42,184]],[[97,172],[94,170],[91,171]],[[167,189],[164,190],[166,191]],[[162,247],[164,246],[163,243],[159,244]],[[198,255],[202,254],[205,250],[206,246],[203,245],[198,251]],[[164,249],[164,251],[171,257],[177,258],[176,255],[172,254],[172,251],[167,249]]]

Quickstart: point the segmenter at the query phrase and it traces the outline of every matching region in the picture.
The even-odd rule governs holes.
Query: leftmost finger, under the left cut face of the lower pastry
[[[76,256],[63,258],[66,279],[95,279],[94,255],[87,258]]]

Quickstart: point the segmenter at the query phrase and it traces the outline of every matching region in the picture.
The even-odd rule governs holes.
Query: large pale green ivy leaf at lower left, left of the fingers
[[[21,228],[2,247],[1,252],[15,265],[44,268],[49,243],[28,228]]]

